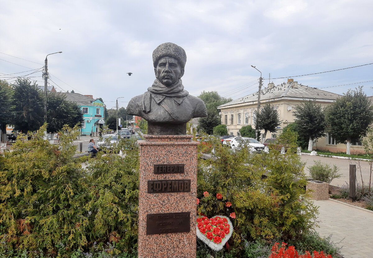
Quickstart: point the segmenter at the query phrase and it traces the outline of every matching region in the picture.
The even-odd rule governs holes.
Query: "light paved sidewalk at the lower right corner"
[[[321,236],[342,246],[345,258],[373,258],[373,212],[333,200],[314,201],[319,206]]]

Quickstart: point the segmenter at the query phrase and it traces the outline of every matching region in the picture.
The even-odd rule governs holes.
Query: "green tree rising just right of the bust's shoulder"
[[[216,109],[216,107],[228,103],[232,99],[221,97],[217,91],[202,91],[198,97],[203,100],[207,109],[207,117],[199,119],[199,129],[202,129],[207,134],[211,134],[214,127],[222,123],[219,115],[220,109]]]

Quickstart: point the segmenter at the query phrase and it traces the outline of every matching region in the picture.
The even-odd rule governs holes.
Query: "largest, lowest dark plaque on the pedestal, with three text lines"
[[[146,216],[146,234],[190,231],[190,212],[156,213]]]

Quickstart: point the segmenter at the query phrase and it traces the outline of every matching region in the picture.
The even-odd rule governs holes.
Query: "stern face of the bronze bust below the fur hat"
[[[157,79],[165,86],[170,86],[184,75],[184,68],[181,68],[178,60],[173,57],[162,57],[157,67],[154,68]]]

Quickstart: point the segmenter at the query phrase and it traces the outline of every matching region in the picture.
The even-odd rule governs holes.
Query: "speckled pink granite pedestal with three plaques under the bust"
[[[191,135],[144,138],[139,141],[138,257],[195,258],[199,143]]]

